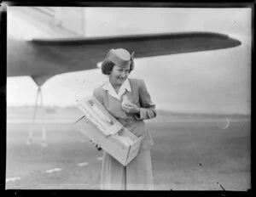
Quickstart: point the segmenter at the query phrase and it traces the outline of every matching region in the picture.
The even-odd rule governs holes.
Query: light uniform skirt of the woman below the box
[[[101,189],[153,190],[154,180],[150,149],[140,149],[127,166],[103,152]]]

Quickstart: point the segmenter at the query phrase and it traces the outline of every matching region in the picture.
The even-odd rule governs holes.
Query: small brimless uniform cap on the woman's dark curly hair
[[[108,52],[107,59],[112,61],[115,65],[126,66],[131,64],[132,55],[124,48],[112,48]]]

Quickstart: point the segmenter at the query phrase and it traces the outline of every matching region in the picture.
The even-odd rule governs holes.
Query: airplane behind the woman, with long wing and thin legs
[[[8,19],[15,15],[18,22],[23,22],[14,24],[8,20],[7,76],[31,76],[38,86],[27,144],[32,143],[39,95],[40,105],[44,106],[41,89],[44,83],[61,73],[97,69],[97,63],[105,58],[111,48],[136,51],[134,58],[137,59],[235,48],[241,45],[241,41],[236,38],[207,31],[84,37],[81,31],[71,31],[72,29],[65,25],[67,19],[65,20],[64,15],[70,13],[69,8],[61,8],[59,13],[57,8],[50,7],[9,7],[7,10]],[[80,16],[76,20],[79,25],[84,18]],[[11,25],[16,25],[19,31],[11,28]],[[39,33],[27,36],[26,25],[31,25]],[[44,117],[42,145],[46,145]]]

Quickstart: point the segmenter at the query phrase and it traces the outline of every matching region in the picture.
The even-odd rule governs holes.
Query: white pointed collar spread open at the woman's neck
[[[113,98],[117,98],[120,100],[121,96],[125,93],[125,91],[131,92],[131,84],[129,79],[126,79],[125,82],[119,88],[119,93],[115,92],[110,82],[106,82],[105,84],[103,84],[102,89],[108,90],[109,95],[113,96]]]

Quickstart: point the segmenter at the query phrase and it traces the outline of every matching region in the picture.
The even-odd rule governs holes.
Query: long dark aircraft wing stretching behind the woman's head
[[[135,52],[136,59],[233,48],[240,44],[234,38],[212,32],[9,40],[7,76],[32,76],[40,85],[60,73],[95,69],[111,48],[126,48]]]

